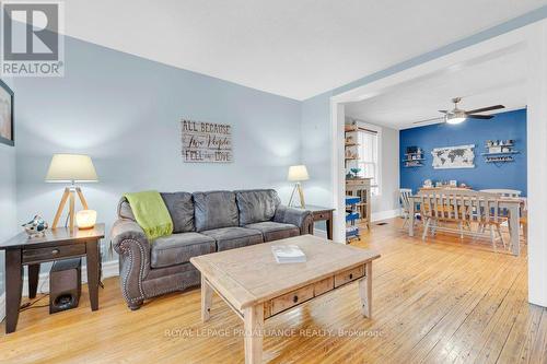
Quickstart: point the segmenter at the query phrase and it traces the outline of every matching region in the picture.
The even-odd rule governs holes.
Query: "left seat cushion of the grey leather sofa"
[[[163,268],[190,261],[191,257],[214,253],[214,239],[198,233],[162,236],[152,242],[152,268]]]

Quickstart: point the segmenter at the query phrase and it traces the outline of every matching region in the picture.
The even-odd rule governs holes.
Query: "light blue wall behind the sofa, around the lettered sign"
[[[300,102],[73,38],[65,51],[65,78],[15,82],[19,221],[53,220],[63,186],[44,177],[59,152],[93,157],[101,181],[82,187],[107,227],[126,191],[272,187],[287,201]],[[232,125],[234,162],[184,163],[183,117]]]

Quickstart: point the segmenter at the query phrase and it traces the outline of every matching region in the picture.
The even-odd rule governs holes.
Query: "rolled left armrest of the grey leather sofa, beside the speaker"
[[[150,271],[150,242],[132,220],[119,219],[110,233],[114,250],[119,255],[121,294],[131,309],[142,305],[142,281]]]

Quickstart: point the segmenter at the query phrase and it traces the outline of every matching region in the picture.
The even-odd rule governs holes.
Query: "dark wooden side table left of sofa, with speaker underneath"
[[[85,257],[91,309],[98,309],[100,246],[104,224],[90,230],[59,227],[44,237],[28,238],[26,233],[1,243],[5,250],[5,333],[15,331],[23,291],[23,267],[28,266],[28,297],[36,297],[39,265],[47,261]]]

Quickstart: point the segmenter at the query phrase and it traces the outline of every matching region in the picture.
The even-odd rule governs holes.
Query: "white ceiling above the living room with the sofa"
[[[68,35],[305,99],[547,0],[70,0]]]

